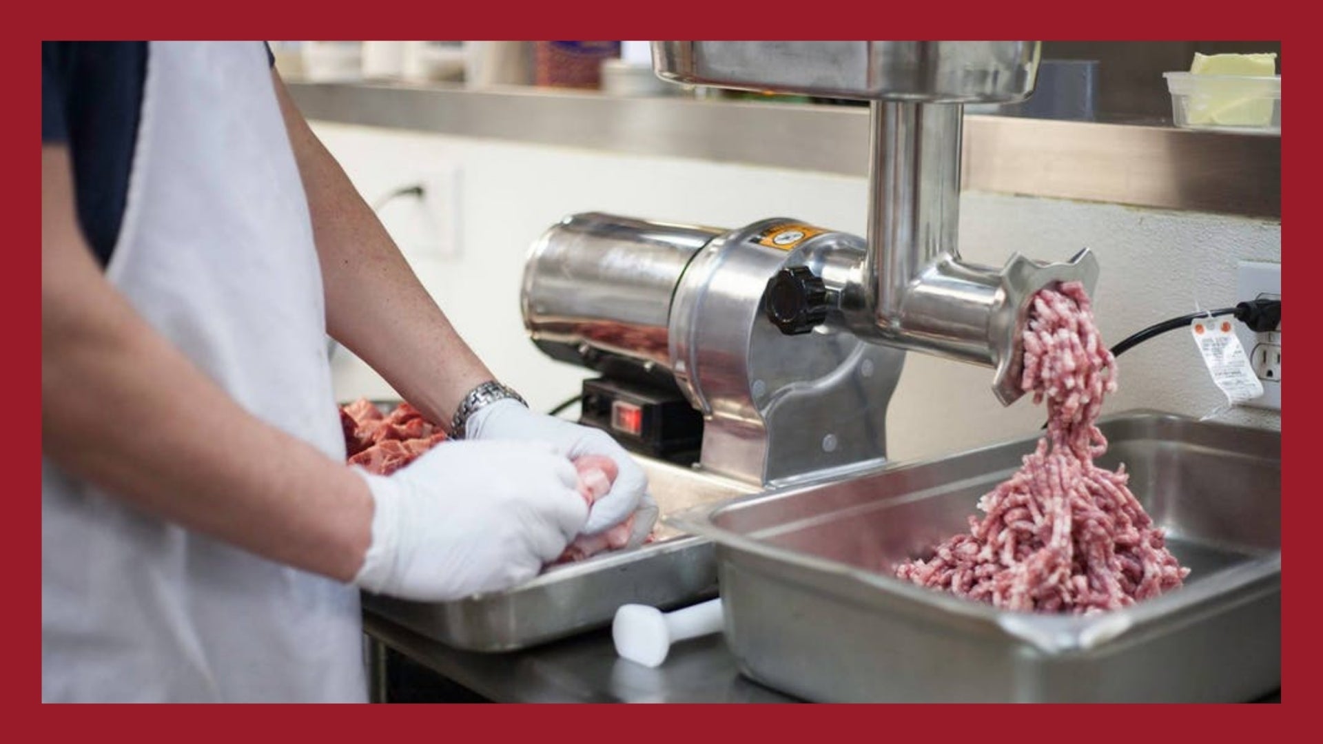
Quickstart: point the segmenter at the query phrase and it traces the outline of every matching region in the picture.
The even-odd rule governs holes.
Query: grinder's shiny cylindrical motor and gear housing
[[[762,302],[794,266],[844,286],[864,252],[787,218],[717,230],[576,214],[533,245],[524,324],[554,359],[673,380],[705,418],[705,470],[761,485],[876,466],[904,352],[857,339],[843,318],[785,335]]]

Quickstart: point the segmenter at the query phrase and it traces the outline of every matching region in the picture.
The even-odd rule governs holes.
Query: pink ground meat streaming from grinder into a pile
[[[909,560],[896,575],[1008,610],[1094,613],[1181,585],[1166,548],[1115,473],[1094,465],[1107,441],[1094,425],[1117,389],[1117,364],[1078,282],[1040,291],[1024,332],[1021,387],[1048,404],[1046,434],[1009,481],[979,500],[983,519]]]

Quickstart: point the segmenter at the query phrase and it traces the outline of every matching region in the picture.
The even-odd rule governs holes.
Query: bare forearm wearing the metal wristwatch
[[[274,73],[273,73],[274,74]],[[394,241],[275,78],[308,197],[331,335],[441,425],[491,372],[455,332]]]

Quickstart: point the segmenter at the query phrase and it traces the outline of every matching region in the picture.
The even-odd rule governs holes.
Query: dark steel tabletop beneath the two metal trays
[[[799,703],[742,676],[725,638],[676,643],[648,669],[615,655],[610,629],[513,654],[460,651],[373,613],[364,631],[495,703]],[[1254,703],[1281,703],[1281,691]]]

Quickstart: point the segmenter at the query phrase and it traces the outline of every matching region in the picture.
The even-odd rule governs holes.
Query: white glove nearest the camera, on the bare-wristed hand
[[[537,576],[583,530],[587,504],[562,450],[544,442],[446,442],[372,490],[372,544],[353,584],[446,601]]]

